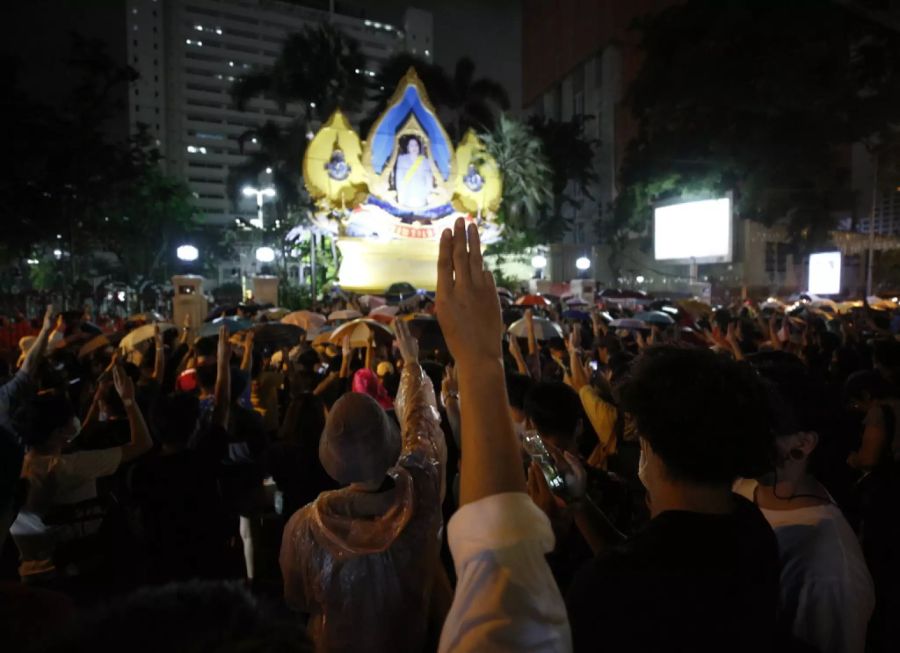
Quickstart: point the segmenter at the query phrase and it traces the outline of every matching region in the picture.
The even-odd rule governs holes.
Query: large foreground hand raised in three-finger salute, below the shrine
[[[474,224],[466,229],[462,219],[452,235],[449,230],[441,235],[436,306],[447,347],[460,367],[500,360],[503,321],[497,288],[484,270],[478,229]]]

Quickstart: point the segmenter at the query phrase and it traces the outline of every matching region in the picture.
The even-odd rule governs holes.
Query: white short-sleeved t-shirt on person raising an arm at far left
[[[32,451],[25,456],[22,478],[29,482],[28,499],[9,529],[22,558],[19,566],[22,576],[52,571],[58,543],[97,532],[100,519],[49,525],[44,517],[55,506],[96,499],[97,479],[114,474],[121,462],[121,447],[62,456],[44,456]]]

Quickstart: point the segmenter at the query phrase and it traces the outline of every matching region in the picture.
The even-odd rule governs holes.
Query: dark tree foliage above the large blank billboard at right
[[[829,0],[688,0],[641,19],[638,121],[606,235],[654,201],[735,192],[739,215],[817,240],[853,206],[849,146],[896,120],[900,37]]]

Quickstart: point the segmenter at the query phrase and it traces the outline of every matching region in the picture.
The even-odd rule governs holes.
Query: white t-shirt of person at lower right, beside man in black
[[[735,492],[753,500],[757,482]],[[821,653],[862,653],[875,607],[859,540],[834,504],[766,510],[781,557],[781,610],[795,637]]]

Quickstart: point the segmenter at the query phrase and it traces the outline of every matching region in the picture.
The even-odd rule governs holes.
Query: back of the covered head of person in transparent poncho
[[[319,460],[331,478],[379,481],[399,457],[400,433],[375,399],[349,392],[334,403],[319,442]]]

